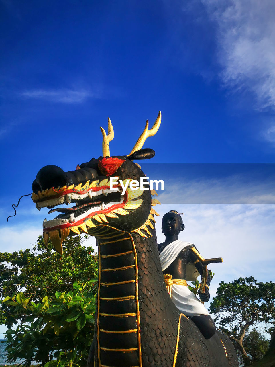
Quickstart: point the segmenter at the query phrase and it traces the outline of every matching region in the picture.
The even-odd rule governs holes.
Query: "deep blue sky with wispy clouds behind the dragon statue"
[[[107,128],[108,116],[115,134],[111,155],[128,154],[146,119],[152,126],[161,110],[161,127],[145,144],[156,151],[150,163],[274,163],[274,1],[0,0],[0,7],[1,251],[34,243],[47,216],[23,198],[17,217],[7,223],[11,204],[31,192],[41,167],[72,170],[100,156],[99,127]],[[209,247],[215,234],[215,241],[222,242],[221,233],[228,239],[228,231],[235,231],[231,245],[238,248],[241,238],[247,252],[252,240],[263,240],[271,251],[268,259],[274,258],[273,166],[264,171],[263,185],[261,169],[249,188],[238,169],[237,180],[230,174],[225,178],[197,171],[197,177],[194,172],[189,177],[181,172],[177,178],[184,178],[188,197],[199,192],[213,197],[213,187],[219,198],[228,196],[228,188],[245,196],[232,207],[219,198],[215,203],[223,206],[206,200],[213,204],[208,209],[198,200],[189,201],[184,218],[191,228],[185,239]],[[169,209],[169,200],[179,203],[180,188],[161,194],[165,207],[160,212]],[[254,200],[255,193],[264,199]],[[183,212],[186,216],[185,208]],[[209,213],[208,224],[203,212]],[[216,216],[221,220],[215,228]],[[212,230],[207,241],[203,223]],[[211,257],[208,247],[205,257]],[[234,277],[256,272],[257,279],[258,271],[258,280],[274,281],[271,263],[265,266],[268,277],[251,257],[245,272],[235,267],[233,256],[230,261],[223,269],[236,269]],[[221,275],[226,281],[234,278],[229,270]]]

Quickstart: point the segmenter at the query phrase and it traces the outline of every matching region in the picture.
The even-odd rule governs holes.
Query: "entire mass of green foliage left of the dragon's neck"
[[[83,240],[64,241],[61,258],[51,241],[45,248],[41,236],[32,250],[0,253],[0,323],[9,329],[8,361],[85,366],[94,334],[98,256]]]

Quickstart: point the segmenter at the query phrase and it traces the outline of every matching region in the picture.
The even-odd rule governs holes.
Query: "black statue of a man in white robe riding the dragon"
[[[161,261],[164,278],[170,279],[170,296],[177,308],[190,317],[201,331],[202,335],[209,339],[216,331],[214,321],[211,319],[204,305],[199,301],[193,292],[187,287],[187,268],[194,264],[194,271],[202,275],[202,265],[190,251],[194,244],[178,239],[179,233],[184,230],[182,218],[176,210],[170,210],[162,218],[162,233],[165,241],[158,245],[159,258]],[[192,265],[191,265],[192,266]],[[193,280],[193,279],[188,279]],[[199,298],[203,302],[208,302],[210,298],[209,285],[211,277],[208,272],[205,293],[199,293]],[[168,283],[166,283],[168,284]]]

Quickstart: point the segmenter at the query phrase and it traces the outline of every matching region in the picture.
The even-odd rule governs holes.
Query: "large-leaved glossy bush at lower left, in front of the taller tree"
[[[2,301],[26,316],[24,324],[7,331],[8,362],[21,358],[22,366],[86,366],[96,297],[87,283],[76,282],[73,288],[38,303],[21,292]]]

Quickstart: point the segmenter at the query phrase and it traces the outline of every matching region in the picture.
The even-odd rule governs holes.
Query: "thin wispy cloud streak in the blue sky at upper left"
[[[91,91],[81,89],[58,89],[58,90],[29,90],[20,93],[23,98],[43,99],[49,102],[56,103],[83,103],[88,98],[99,98],[98,93],[92,93]]]

